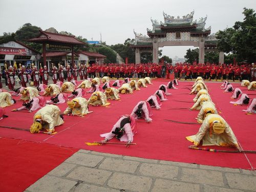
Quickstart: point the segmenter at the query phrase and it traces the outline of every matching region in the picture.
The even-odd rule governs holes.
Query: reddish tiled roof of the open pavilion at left
[[[57,33],[50,33],[46,31],[40,30],[40,35],[36,38],[31,38],[28,41],[32,42],[62,42],[65,44],[73,44],[73,45],[83,45],[86,44],[85,42],[82,42],[78,39],[76,39],[74,36],[70,35],[61,35]]]

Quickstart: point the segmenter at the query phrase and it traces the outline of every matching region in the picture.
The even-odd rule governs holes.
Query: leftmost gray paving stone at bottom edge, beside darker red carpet
[[[44,176],[27,188],[31,192],[55,192],[55,191],[69,191],[77,182],[67,179],[60,179],[52,176]]]

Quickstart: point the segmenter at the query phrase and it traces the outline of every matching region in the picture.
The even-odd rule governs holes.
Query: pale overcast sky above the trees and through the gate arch
[[[146,34],[152,19],[164,22],[163,11],[183,16],[195,10],[194,20],[207,15],[205,28],[211,33],[243,21],[243,8],[256,10],[256,0],[0,0],[0,35],[15,32],[26,23],[46,30],[54,27],[88,40],[106,41],[107,45],[123,44],[135,38],[133,30]],[[163,55],[182,57],[194,47],[163,47]]]

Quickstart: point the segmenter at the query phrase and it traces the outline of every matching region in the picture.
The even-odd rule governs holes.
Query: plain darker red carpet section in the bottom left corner
[[[0,191],[24,191],[77,149],[0,138]]]

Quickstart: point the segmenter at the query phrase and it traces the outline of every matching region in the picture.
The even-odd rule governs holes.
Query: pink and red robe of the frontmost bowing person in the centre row
[[[116,127],[120,127],[120,123],[121,121],[126,118],[127,116],[121,116],[118,121],[116,122],[116,124],[114,124],[111,132],[109,133],[105,133],[105,134],[101,134],[100,137],[105,137],[105,139],[112,139],[113,137],[115,137],[115,134],[113,134],[112,132],[116,130]],[[123,128],[125,133],[122,135],[122,137],[120,138],[120,141],[131,141],[133,142],[133,136],[137,133],[136,130],[136,122],[133,116],[130,116],[131,119],[131,123],[126,123]]]

